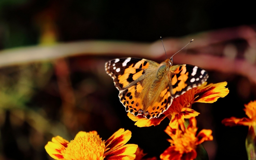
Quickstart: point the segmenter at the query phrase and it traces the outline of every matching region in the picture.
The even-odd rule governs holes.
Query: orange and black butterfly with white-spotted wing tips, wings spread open
[[[193,65],[175,65],[141,58],[120,58],[105,63],[105,70],[119,90],[120,102],[126,112],[157,118],[172,104],[174,98],[200,86],[208,73]]]

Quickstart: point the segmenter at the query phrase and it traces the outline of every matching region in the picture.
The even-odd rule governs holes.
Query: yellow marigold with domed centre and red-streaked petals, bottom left
[[[80,131],[70,142],[60,136],[53,137],[45,150],[57,160],[134,160],[138,145],[126,144],[131,136],[131,131],[119,129],[102,141],[96,131]]]

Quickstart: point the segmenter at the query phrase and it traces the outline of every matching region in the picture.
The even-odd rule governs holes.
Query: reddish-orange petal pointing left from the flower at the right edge
[[[231,117],[231,118],[225,118],[221,121],[222,124],[225,126],[235,126],[235,125],[245,125],[245,126],[250,126],[252,125],[253,121],[249,118],[236,118],[236,117]]]

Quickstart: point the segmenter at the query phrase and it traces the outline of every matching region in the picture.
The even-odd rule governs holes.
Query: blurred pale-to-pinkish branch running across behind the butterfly
[[[251,60],[251,63],[249,63],[243,59],[237,60],[223,57],[225,45],[237,39],[245,40],[248,44],[247,49],[250,50],[252,55],[251,57],[255,57],[256,33],[251,27],[240,26],[208,31],[182,38],[164,39],[168,56],[173,55],[184,47],[191,39],[195,39],[193,44],[188,45],[186,49],[175,55],[175,63],[188,63],[207,70],[241,74],[256,83],[255,59],[251,60],[249,58]],[[199,54],[185,55],[185,52]],[[119,57],[157,59],[164,56],[164,50],[160,40],[153,43],[96,40],[59,43],[47,47],[34,46],[0,51],[0,67],[77,55],[118,55]]]

